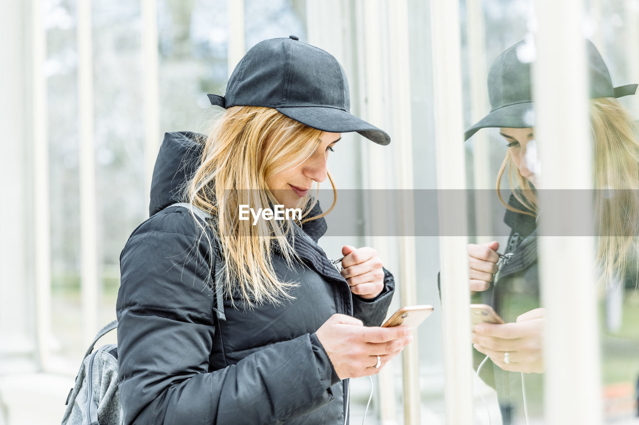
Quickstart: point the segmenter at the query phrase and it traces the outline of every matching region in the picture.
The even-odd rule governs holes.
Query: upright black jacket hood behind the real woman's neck
[[[151,179],[149,216],[185,202],[184,188],[199,166],[206,136],[192,131],[164,134]]]

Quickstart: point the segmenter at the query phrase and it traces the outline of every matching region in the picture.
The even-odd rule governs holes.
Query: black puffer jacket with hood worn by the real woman
[[[206,237],[187,209],[168,207],[181,201],[178,194],[199,161],[196,137],[167,133],[153,172],[151,218],[135,229],[120,258],[125,422],[343,423],[346,382],[335,375],[314,332],[334,313],[381,324],[394,291],[392,275],[386,272],[376,299],[351,296],[317,244],[326,225],[316,220],[295,230],[303,264],[289,269],[273,257],[282,280],[300,283],[293,301],[237,309],[225,295],[218,306],[210,279],[216,262],[210,264]]]

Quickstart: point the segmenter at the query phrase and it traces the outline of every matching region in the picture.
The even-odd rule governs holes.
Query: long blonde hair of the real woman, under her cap
[[[224,292],[239,294],[245,306],[279,304],[291,299],[295,282],[279,280],[273,269],[273,249],[278,245],[289,267],[299,260],[293,250],[291,223],[278,220],[239,220],[239,205],[265,208],[278,204],[266,186],[269,176],[303,163],[316,149],[322,131],[305,126],[273,108],[231,107],[214,124],[206,141],[201,165],[188,186],[189,202],[213,215],[211,226],[224,262]],[[309,217],[314,198],[302,198],[302,221]],[[293,224],[295,225],[295,224]],[[289,241],[290,239],[290,241]],[[209,241],[212,248],[212,241]],[[210,250],[213,252],[213,250]],[[220,282],[216,282],[220,284]]]

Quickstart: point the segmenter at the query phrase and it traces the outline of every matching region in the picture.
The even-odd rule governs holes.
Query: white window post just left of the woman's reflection
[[[465,188],[459,3],[431,1],[435,143],[442,287],[442,339],[445,409],[448,424],[471,424],[472,357],[470,347],[470,290],[464,197],[451,202],[452,190]]]

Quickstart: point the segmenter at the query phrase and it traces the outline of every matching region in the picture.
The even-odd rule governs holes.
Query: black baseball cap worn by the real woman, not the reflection
[[[357,131],[380,145],[390,143],[385,131],[350,113],[348,81],[337,59],[296,36],[264,40],[250,48],[231,73],[226,95],[208,98],[222,108],[275,108],[321,131]]]

